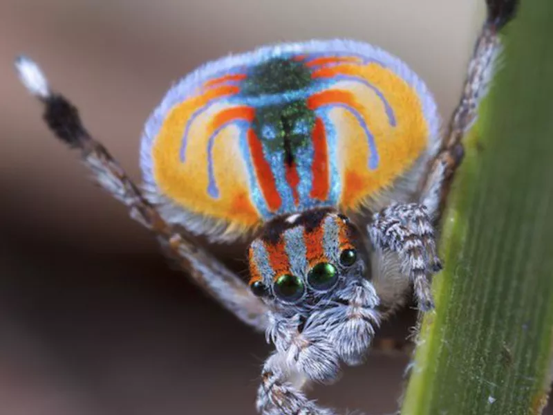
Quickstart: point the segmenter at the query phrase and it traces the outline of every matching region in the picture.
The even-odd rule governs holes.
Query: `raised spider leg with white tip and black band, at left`
[[[86,131],[73,104],[63,95],[50,91],[46,77],[35,62],[19,57],[16,68],[21,82],[44,104],[44,120],[50,130],[66,145],[80,151],[84,165],[91,170],[95,181],[126,205],[133,219],[156,234],[162,247],[196,284],[240,320],[264,330],[267,325],[265,304],[221,261],[196,246],[187,234],[176,232],[161,218],[104,146]]]

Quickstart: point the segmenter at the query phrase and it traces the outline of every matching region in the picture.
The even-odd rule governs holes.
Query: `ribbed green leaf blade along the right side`
[[[403,415],[540,414],[549,388],[553,1],[488,3],[503,53],[442,219]]]

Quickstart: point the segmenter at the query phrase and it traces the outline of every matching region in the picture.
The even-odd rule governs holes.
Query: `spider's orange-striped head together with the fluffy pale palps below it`
[[[270,305],[269,336],[277,351],[307,360],[312,379],[333,380],[320,368],[360,362],[371,342],[379,299],[361,247],[353,223],[332,209],[275,219],[250,246],[250,287]]]

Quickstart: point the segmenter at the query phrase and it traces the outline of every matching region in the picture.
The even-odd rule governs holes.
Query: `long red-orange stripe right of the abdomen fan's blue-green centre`
[[[330,189],[330,178],[328,177],[328,148],[324,123],[320,118],[315,120],[312,142],[314,151],[313,164],[311,166],[313,181],[309,196],[312,199],[326,201],[328,190]]]

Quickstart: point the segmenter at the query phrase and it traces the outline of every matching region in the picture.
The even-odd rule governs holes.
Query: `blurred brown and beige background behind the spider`
[[[26,53],[137,180],[144,120],[199,64],[259,44],[353,37],[402,57],[447,119],[480,0],[1,0],[0,414],[254,414],[270,348],[185,275],[54,140],[19,85]],[[234,268],[236,249],[218,247]],[[382,335],[402,340],[413,315]],[[408,359],[375,352],[313,396],[397,409]]]

